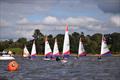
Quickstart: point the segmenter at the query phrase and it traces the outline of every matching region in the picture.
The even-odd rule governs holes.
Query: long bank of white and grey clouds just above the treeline
[[[75,31],[85,31],[85,33],[87,34],[95,32],[107,33],[109,31],[119,31],[119,29],[115,27],[115,25],[119,25],[117,19],[119,19],[118,16],[111,16],[108,21],[102,22],[99,19],[88,16],[68,17],[64,19],[55,16],[46,16],[39,22],[30,22],[26,17],[22,17],[18,21],[16,21],[16,24],[14,26],[3,28],[0,31],[0,39],[18,39],[20,37],[32,39],[32,35],[35,29],[40,29],[40,31],[45,35],[56,35],[59,33],[64,34],[66,23],[69,24],[70,33]],[[113,22],[114,24],[112,23],[111,25],[111,22]],[[74,29],[74,31],[72,31],[72,29]]]

